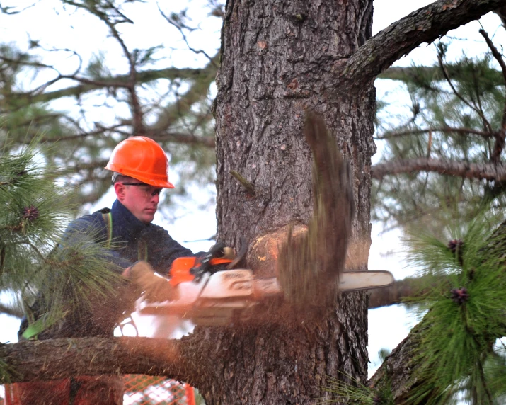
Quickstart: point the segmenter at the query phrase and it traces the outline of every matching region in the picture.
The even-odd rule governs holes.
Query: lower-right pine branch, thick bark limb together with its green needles
[[[410,261],[435,275],[435,287],[425,295],[430,310],[369,387],[388,386],[396,404],[443,404],[462,390],[476,404],[497,399],[501,388],[490,390],[494,371],[488,367],[485,375],[485,362],[505,331],[505,223],[493,229],[503,218],[483,209],[468,222],[452,221],[442,230],[449,243],[413,229]]]

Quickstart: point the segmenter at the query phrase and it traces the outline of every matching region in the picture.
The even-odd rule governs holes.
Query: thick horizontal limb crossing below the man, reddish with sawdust
[[[183,341],[152,338],[51,339],[0,345],[0,358],[13,370],[10,382],[105,374],[166,375],[189,381],[190,375],[197,375],[198,365],[182,354],[183,346]]]

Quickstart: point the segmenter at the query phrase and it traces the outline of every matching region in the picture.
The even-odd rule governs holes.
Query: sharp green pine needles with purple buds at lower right
[[[485,210],[447,227],[446,239],[420,232],[409,239],[411,263],[439,280],[420,298],[430,326],[418,333],[413,362],[422,367],[412,376],[420,383],[410,404],[447,404],[456,394],[498,404],[506,392],[504,350],[495,344],[506,336],[505,261],[498,249],[506,224],[495,231],[498,217]]]

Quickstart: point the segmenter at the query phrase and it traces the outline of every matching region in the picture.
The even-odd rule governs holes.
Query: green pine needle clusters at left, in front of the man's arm
[[[72,219],[66,201],[73,190],[54,183],[54,168],[37,142],[14,149],[0,149],[0,292],[23,305],[29,319],[38,294],[47,298],[45,319],[79,316],[91,306],[91,296],[114,295],[120,269],[110,263],[105,246],[91,239],[59,244]],[[0,381],[6,381],[2,364],[0,359]]]

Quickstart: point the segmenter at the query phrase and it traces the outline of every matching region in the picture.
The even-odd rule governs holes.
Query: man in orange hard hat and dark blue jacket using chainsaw
[[[132,307],[141,293],[146,300],[163,301],[175,296],[169,283],[154,273],[168,273],[174,259],[195,256],[178,244],[165,229],[151,224],[163,188],[173,188],[168,181],[168,160],[159,144],[147,137],[130,137],[115,147],[105,167],[113,171],[117,199],[113,207],[75,219],[64,233],[62,246],[71,246],[83,238],[113,244],[108,260],[119,265],[122,278],[118,294],[111,300],[103,296],[93,302],[93,310],[71,314],[42,330],[27,329],[24,321],[20,333],[31,338],[70,338],[113,336],[121,314]],[[36,309],[34,312],[37,312]],[[26,332],[30,333],[26,333]],[[55,382],[18,385],[21,404],[122,404],[121,377],[76,377]]]

